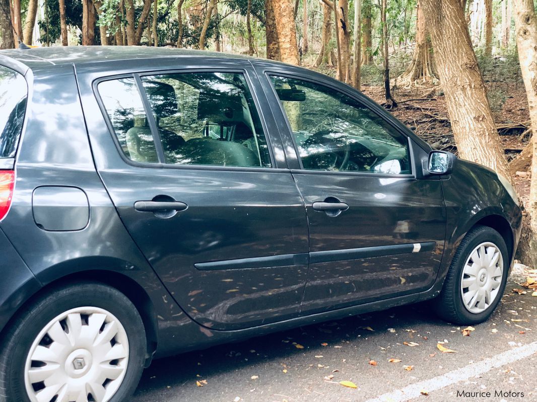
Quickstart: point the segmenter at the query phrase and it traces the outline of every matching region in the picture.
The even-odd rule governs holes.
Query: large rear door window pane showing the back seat
[[[271,167],[269,147],[241,73],[142,77],[166,163]]]

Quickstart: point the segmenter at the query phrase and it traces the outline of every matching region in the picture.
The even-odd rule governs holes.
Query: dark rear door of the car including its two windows
[[[103,112],[90,137],[122,221],[177,303],[217,330],[297,316],[307,277],[303,201],[243,64],[105,77],[95,105],[83,96]]]

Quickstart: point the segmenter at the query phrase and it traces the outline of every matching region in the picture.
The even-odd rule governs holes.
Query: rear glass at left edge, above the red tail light
[[[12,158],[17,152],[27,97],[24,77],[0,65],[0,158]]]

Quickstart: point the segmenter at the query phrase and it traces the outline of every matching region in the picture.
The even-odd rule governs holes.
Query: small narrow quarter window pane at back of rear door
[[[103,81],[98,90],[126,157],[135,162],[158,163],[153,134],[134,78]]]

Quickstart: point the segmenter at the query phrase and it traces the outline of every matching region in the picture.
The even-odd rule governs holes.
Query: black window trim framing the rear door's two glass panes
[[[143,88],[142,84],[142,78],[143,77],[150,77],[155,75],[171,75],[171,74],[179,74],[179,73],[195,73],[195,72],[208,72],[208,73],[238,73],[242,74],[246,85],[248,85],[248,90],[250,91],[250,95],[253,100],[253,107],[256,108],[257,115],[259,117],[259,121],[261,123],[261,126],[263,128],[263,135],[265,136],[265,141],[267,144],[267,150],[269,151],[269,158],[271,162],[270,167],[251,167],[251,166],[219,166],[219,165],[174,165],[172,163],[165,163],[164,158],[164,149],[162,146],[162,142],[160,141],[160,135],[158,133],[158,128],[156,126],[155,122],[155,116],[153,115],[153,110],[151,110],[149,101],[147,99],[147,94],[145,89]],[[257,76],[256,76],[257,77]],[[104,106],[103,99],[100,96],[98,86],[100,83],[103,83],[105,81],[112,81],[117,80],[121,78],[133,78],[137,87],[138,92],[140,93],[140,98],[142,99],[142,104],[144,106],[144,110],[146,111],[146,116],[149,123],[149,128],[151,130],[151,134],[153,135],[153,141],[158,142],[159,147],[162,150],[162,161],[161,161],[161,155],[159,155],[157,145],[155,143],[155,149],[157,150],[157,155],[159,158],[158,163],[150,163],[150,162],[137,162],[133,161],[132,159],[128,158],[127,155],[123,152],[121,148],[121,144],[119,143],[117,135],[115,135],[115,130],[112,124],[112,120],[110,116],[108,115],[108,112],[106,111],[106,107]],[[141,167],[141,168],[160,168],[160,169],[190,169],[190,170],[223,170],[223,171],[230,171],[230,172],[267,172],[267,169],[270,169],[270,172],[289,172],[288,168],[277,168],[275,164],[275,158],[273,154],[273,148],[272,148],[272,142],[269,135],[269,130],[267,129],[265,116],[263,114],[262,108],[259,106],[259,100],[257,98],[256,91],[254,91],[252,88],[254,87],[252,84],[252,80],[250,79],[250,76],[248,74],[248,70],[246,69],[230,69],[230,68],[200,68],[200,69],[166,69],[166,70],[153,70],[153,71],[143,71],[143,72],[128,72],[123,74],[117,74],[112,76],[104,76],[99,77],[93,80],[92,82],[92,90],[93,95],[95,96],[95,99],[97,100],[99,109],[101,110],[101,114],[103,114],[108,132],[110,132],[110,135],[112,136],[112,140],[115,144],[115,147],[117,148],[117,151],[120,155],[120,158],[127,163],[127,165],[134,166],[134,167]],[[149,113],[148,113],[149,111]],[[151,124],[151,121],[153,122],[153,125]]]

